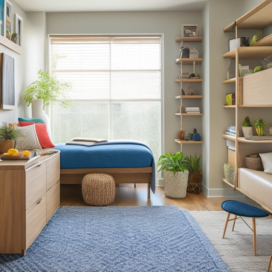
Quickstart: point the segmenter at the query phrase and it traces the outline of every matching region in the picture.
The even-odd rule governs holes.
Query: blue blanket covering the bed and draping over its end
[[[91,146],[56,144],[60,168],[135,168],[152,166],[151,190],[155,193],[156,166],[149,146],[142,142],[114,140]]]

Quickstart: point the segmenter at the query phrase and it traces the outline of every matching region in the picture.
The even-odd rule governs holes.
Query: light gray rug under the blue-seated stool
[[[241,219],[229,222],[225,238],[222,239],[227,213],[224,211],[190,211],[216,251],[232,272],[267,271],[272,253],[272,219],[256,218],[257,256],[253,250],[253,232]],[[252,227],[252,219],[244,218]]]

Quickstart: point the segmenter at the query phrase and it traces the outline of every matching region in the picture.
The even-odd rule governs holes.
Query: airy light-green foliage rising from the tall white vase
[[[71,100],[67,98],[67,91],[71,88],[68,82],[62,82],[56,77],[50,76],[48,72],[39,70],[38,80],[32,82],[23,92],[23,100],[28,102],[28,106],[33,99],[42,99],[44,110],[45,106],[61,101],[61,106],[67,108],[71,105]]]

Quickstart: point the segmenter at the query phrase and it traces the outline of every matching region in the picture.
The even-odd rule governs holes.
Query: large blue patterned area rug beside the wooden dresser
[[[0,271],[230,271],[177,206],[59,207],[26,252]]]

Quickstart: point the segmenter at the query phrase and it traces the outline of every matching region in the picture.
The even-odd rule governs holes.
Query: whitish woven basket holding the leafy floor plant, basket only
[[[182,199],[186,196],[188,185],[188,170],[184,172],[163,171],[164,177],[164,194],[172,199]]]

